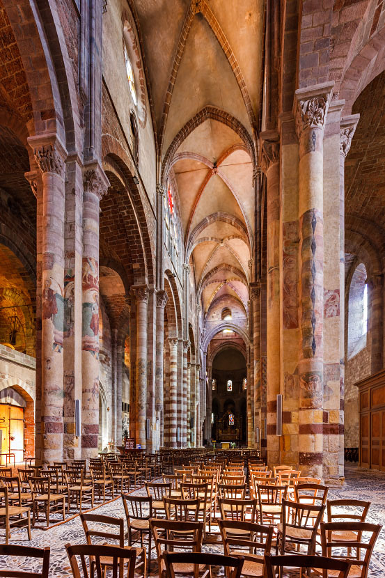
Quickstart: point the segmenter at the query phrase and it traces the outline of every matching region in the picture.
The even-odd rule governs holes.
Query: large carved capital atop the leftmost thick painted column
[[[54,173],[64,177],[64,163],[68,155],[56,134],[30,136],[28,143],[42,175]]]

